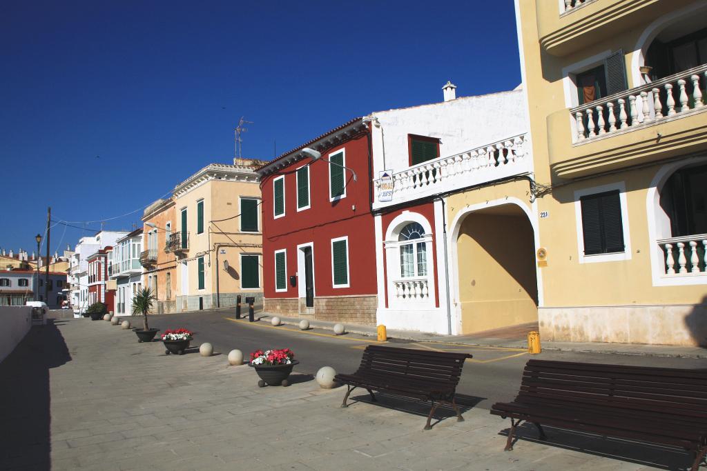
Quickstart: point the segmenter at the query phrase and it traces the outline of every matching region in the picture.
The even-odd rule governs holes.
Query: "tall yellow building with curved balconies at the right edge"
[[[707,2],[515,4],[542,337],[704,345]]]

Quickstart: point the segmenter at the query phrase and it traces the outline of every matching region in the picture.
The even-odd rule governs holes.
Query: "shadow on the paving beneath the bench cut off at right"
[[[508,422],[508,420],[505,422]],[[513,451],[510,453],[522,453],[522,442],[530,441],[662,470],[689,469],[692,465],[692,460],[694,460],[694,457],[682,448],[670,448],[668,446],[654,445],[653,443],[614,439],[582,431],[556,429],[547,425],[543,425],[542,428],[547,435],[547,440],[544,441],[538,438],[537,429],[533,424],[528,424],[527,422],[520,424],[513,439]],[[503,429],[499,435],[507,437],[508,430],[508,428]]]

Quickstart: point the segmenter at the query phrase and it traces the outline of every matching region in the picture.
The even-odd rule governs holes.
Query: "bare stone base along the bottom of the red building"
[[[378,297],[364,296],[315,297],[314,308],[304,308],[299,298],[265,298],[263,310],[281,316],[302,317],[315,321],[345,322],[375,326]]]

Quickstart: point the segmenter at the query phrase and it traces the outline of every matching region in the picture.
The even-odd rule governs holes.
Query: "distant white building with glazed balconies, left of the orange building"
[[[116,316],[132,315],[132,298],[143,287],[141,250],[142,228],[120,237],[113,246],[108,273],[110,279],[115,280],[115,301],[108,309]]]

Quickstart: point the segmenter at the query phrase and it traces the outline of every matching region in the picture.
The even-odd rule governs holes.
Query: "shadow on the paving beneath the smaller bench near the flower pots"
[[[429,401],[407,398],[405,396],[394,395],[390,393],[375,393],[375,398],[377,400],[374,403],[372,400],[370,400],[370,395],[368,395],[368,393],[366,393],[365,395],[361,394],[351,396],[351,398],[349,398],[349,401],[351,401],[349,402],[349,407],[351,407],[352,405],[356,405],[356,403],[366,403],[374,406],[385,407],[386,409],[407,412],[408,414],[419,415],[425,418],[430,413],[431,405]],[[485,399],[486,398],[479,398],[473,395],[465,395],[458,393],[457,395],[455,395],[455,401],[462,412],[462,417],[464,416],[464,412],[472,410],[472,408],[474,408],[477,404],[479,404],[482,400]],[[433,422],[431,422],[431,426],[435,427],[436,424],[439,424],[443,420],[450,418],[456,420],[456,417],[457,413],[454,412],[452,407],[448,407],[447,405],[440,405],[440,407],[438,407],[435,411],[435,414],[432,416]],[[422,429],[423,426],[424,422],[420,422],[420,429]]]

